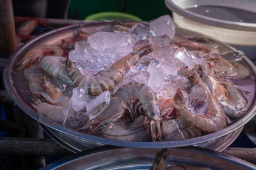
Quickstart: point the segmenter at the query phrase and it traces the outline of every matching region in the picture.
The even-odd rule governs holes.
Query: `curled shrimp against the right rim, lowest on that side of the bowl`
[[[227,97],[218,103],[228,117],[239,117],[245,113],[244,108],[246,108],[247,100],[234,85],[225,85],[225,89],[227,89]]]

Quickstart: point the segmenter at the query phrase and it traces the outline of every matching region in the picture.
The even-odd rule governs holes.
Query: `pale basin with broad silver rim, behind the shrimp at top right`
[[[228,18],[220,19],[216,17],[218,15],[218,11],[212,11],[212,15],[207,17],[202,11],[196,12],[188,10],[188,8],[196,9],[200,6],[207,6],[214,9],[223,9],[228,7],[256,13],[255,1],[165,0],[165,4],[170,10],[173,11],[173,20],[179,27],[199,32],[200,34],[218,39],[221,42],[228,43],[235,46],[237,49],[242,50],[246,56],[249,57],[249,59],[256,60],[256,22],[246,23],[230,21]],[[236,16],[236,12],[231,11],[230,16]],[[232,13],[235,14],[232,15]],[[248,15],[249,17],[246,15],[246,17],[255,18],[255,15]]]

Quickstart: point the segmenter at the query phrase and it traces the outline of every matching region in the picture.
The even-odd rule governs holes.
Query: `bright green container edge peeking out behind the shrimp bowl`
[[[141,21],[141,18],[122,12],[100,12],[89,15],[84,20],[136,20]]]

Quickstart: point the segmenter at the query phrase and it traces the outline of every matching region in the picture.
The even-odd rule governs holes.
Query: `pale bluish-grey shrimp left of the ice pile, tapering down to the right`
[[[68,76],[66,63],[66,57],[46,56],[40,62],[40,66],[51,76],[60,78],[60,80],[69,85],[74,85],[74,82]]]

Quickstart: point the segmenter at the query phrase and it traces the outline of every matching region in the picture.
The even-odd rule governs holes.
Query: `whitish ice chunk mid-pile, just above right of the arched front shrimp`
[[[164,82],[164,73],[154,62],[150,62],[148,66],[148,72],[150,74],[148,78],[148,86],[154,90],[161,87]]]

